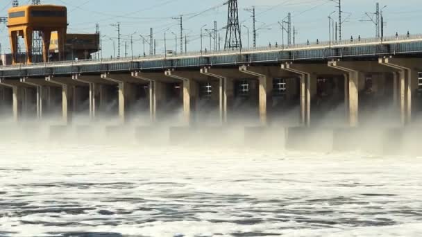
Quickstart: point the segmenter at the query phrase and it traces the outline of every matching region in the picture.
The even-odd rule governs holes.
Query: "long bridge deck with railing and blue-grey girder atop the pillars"
[[[158,70],[168,68],[220,66],[237,64],[274,64],[291,60],[333,60],[337,58],[379,58],[383,55],[419,55],[422,35],[385,37],[384,40],[355,39],[341,42],[319,42],[294,46],[267,46],[239,51],[190,52],[176,55],[149,55],[142,58],[78,60],[47,64],[19,64],[0,67],[0,78],[23,76],[69,75],[101,71]]]

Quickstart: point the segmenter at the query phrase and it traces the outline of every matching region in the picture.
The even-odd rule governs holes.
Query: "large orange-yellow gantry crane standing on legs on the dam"
[[[8,28],[12,49],[12,63],[17,63],[17,42],[22,36],[26,46],[26,63],[32,60],[33,31],[42,34],[42,54],[44,62],[49,60],[51,32],[58,33],[59,60],[65,58],[65,37],[67,31],[67,8],[53,5],[31,5],[10,8],[8,11]]]

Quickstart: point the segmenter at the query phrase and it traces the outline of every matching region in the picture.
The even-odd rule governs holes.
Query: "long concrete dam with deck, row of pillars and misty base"
[[[143,125],[127,139],[148,140],[169,123],[176,143],[219,140],[230,125],[244,126],[246,143],[365,146],[368,134],[386,148],[406,143],[421,119],[422,35],[382,40],[314,42],[256,49],[145,57],[74,60],[0,67],[3,120],[15,123],[59,116],[51,132],[117,118],[108,132],[140,113]],[[183,114],[175,126],[171,113]],[[333,119],[335,118],[335,119]],[[241,122],[243,121],[243,122]],[[245,122],[247,121],[247,122]],[[332,141],[321,134],[330,133]],[[281,146],[277,142],[276,146]]]

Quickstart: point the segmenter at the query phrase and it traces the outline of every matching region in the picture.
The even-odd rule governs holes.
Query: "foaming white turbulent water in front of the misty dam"
[[[422,158],[0,145],[0,236],[422,236]]]

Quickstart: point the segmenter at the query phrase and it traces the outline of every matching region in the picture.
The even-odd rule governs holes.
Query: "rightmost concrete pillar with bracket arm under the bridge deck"
[[[418,88],[418,71],[422,60],[419,58],[380,58],[379,63],[396,71],[398,76],[398,94],[400,120],[402,125],[412,122],[412,97]]]

